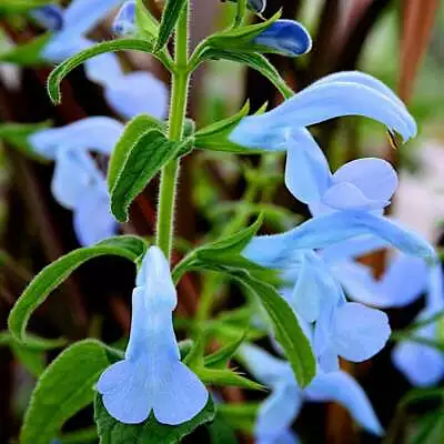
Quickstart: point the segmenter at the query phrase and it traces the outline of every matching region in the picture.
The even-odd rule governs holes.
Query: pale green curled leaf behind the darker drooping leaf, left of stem
[[[123,134],[114,147],[108,167],[108,188],[110,190],[114,188],[115,180],[120,175],[131,149],[152,128],[162,129],[163,122],[148,114],[137,115],[127,124]]]

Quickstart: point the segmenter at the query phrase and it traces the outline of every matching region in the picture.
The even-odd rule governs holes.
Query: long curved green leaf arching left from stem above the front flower
[[[84,262],[102,255],[118,255],[137,262],[141,260],[145,250],[147,243],[141,238],[115,236],[99,242],[93,246],[74,250],[52,262],[31,281],[16,302],[8,319],[10,332],[19,342],[34,343],[33,337],[26,332],[31,314],[75,269]],[[41,344],[42,350],[52,342],[46,340]]]

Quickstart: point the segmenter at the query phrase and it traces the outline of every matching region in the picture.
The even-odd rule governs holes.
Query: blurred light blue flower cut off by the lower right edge
[[[428,292],[425,309],[416,321],[425,321],[444,310],[443,271],[435,265],[430,271]],[[442,319],[428,323],[413,332],[414,336],[433,342],[442,341]],[[428,386],[444,377],[444,353],[426,344],[414,341],[402,341],[392,353],[394,365],[402,372],[411,384]]]

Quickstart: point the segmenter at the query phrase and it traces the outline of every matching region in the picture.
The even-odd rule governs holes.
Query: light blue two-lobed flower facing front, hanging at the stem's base
[[[151,246],[132,294],[132,321],[125,357],[99,379],[97,390],[111,416],[138,424],[151,412],[162,424],[190,421],[205,406],[209,393],[180,361],[172,324],[178,303],[170,266]]]

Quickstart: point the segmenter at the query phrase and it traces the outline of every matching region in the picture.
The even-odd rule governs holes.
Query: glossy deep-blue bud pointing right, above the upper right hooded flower
[[[295,20],[276,20],[254,39],[254,43],[289,57],[305,54],[312,48],[309,31]]]

